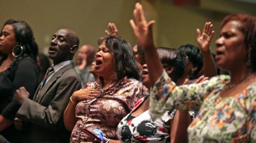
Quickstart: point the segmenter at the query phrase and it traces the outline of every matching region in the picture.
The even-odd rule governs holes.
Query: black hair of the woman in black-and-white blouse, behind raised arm
[[[177,82],[177,80],[182,76],[185,68],[183,55],[177,49],[167,47],[157,47],[157,53],[164,68],[174,68],[173,72],[170,73],[169,76],[173,81]]]

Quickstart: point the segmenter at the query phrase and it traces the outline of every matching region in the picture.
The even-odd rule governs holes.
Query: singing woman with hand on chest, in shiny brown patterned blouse
[[[93,141],[82,130],[93,133],[96,128],[110,142],[119,142],[118,123],[140,98],[148,95],[138,81],[140,75],[132,46],[116,35],[102,37],[98,44],[95,73],[99,80],[74,92],[64,113],[65,127],[72,131],[70,142]]]

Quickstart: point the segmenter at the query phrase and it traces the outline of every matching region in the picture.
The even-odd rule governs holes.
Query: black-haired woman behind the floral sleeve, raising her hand
[[[206,22],[202,35],[200,30],[197,29],[199,47],[185,44],[178,48],[185,55],[185,70],[177,83],[184,83],[186,79],[188,79],[188,83],[193,83],[202,75],[209,78],[217,75],[216,63],[209,49],[211,39],[215,33],[212,27],[211,22]]]

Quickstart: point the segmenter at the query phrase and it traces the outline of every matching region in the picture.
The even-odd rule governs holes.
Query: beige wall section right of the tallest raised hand
[[[254,4],[232,0],[201,0],[199,6],[175,6],[170,0],[142,1],[148,19],[155,19],[156,46],[178,48],[182,44],[197,45],[196,29],[202,31],[206,21],[214,24],[215,36],[210,48],[215,52],[215,40],[223,17],[230,13],[256,15]]]

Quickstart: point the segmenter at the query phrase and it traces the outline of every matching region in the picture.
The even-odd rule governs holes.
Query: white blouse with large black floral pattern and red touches
[[[133,110],[145,101],[140,99]],[[131,111],[131,113],[132,113]],[[117,127],[117,136],[121,142],[169,142],[170,141],[170,120],[174,118],[176,110],[167,110],[156,121],[152,121],[148,110],[137,117],[129,120],[129,113]]]

